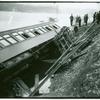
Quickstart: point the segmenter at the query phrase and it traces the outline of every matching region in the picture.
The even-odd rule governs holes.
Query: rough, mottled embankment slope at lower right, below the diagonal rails
[[[41,97],[100,97],[100,34],[88,53],[51,78],[50,93]],[[70,68],[69,68],[70,67]],[[69,68],[69,69],[68,69]]]

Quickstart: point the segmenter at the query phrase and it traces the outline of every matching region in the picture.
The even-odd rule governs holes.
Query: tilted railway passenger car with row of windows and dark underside
[[[0,97],[28,97],[60,56],[55,22],[0,32]]]

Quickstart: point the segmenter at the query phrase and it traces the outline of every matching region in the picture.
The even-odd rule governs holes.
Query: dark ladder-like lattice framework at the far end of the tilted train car
[[[70,30],[68,27],[64,26],[57,36],[54,38],[56,45],[60,53],[62,54],[68,47],[72,44],[72,38],[70,37]]]

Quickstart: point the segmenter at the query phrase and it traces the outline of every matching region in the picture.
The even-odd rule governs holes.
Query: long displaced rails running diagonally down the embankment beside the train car
[[[90,27],[83,33],[82,36],[80,36],[75,42],[73,42],[69,48],[56,60],[56,62],[50,67],[50,69],[46,72],[45,78],[39,83],[39,85],[33,90],[33,92],[30,94],[29,97],[33,97],[35,93],[40,89],[40,87],[62,66],[63,62],[66,60],[66,63],[68,63],[69,58],[82,46],[85,41],[88,40],[88,38],[93,34],[94,32],[91,32],[87,34],[93,27],[95,23],[92,23]],[[77,44],[74,46],[75,44]],[[69,52],[70,51],[70,52]]]

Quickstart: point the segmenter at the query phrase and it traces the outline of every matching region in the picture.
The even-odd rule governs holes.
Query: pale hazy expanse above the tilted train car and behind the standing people
[[[57,18],[61,26],[69,26],[69,16],[93,13],[100,9],[97,3],[13,3],[0,4],[0,31],[37,24],[49,17]]]

